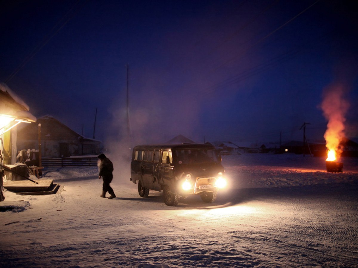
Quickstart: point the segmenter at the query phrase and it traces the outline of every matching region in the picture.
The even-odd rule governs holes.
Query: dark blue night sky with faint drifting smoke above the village
[[[323,140],[333,84],[358,137],[354,1],[6,2],[0,81],[86,137],[126,133],[127,63],[135,142]]]

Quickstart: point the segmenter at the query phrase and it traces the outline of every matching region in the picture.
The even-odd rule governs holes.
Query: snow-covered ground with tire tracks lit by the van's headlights
[[[55,195],[5,190],[0,206],[18,208],[0,212],[0,266],[358,266],[357,158],[327,173],[307,155],[227,155],[230,189],[177,207],[139,197],[129,163],[111,159],[116,199],[100,198],[97,168],[46,169]]]

